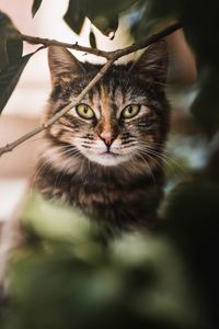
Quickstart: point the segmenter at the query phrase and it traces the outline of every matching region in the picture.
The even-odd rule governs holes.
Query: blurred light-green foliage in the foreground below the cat
[[[166,238],[124,234],[104,246],[95,222],[39,195],[23,219],[30,242],[11,262],[2,329],[205,328]]]

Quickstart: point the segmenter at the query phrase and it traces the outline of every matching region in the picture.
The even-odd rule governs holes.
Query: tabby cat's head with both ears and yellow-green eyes
[[[72,102],[100,69],[60,47],[50,47],[49,67],[54,90],[47,117]],[[111,167],[137,158],[151,162],[168,129],[166,70],[164,43],[149,47],[132,65],[114,66],[47,137],[54,147],[64,147],[65,159],[82,155]]]

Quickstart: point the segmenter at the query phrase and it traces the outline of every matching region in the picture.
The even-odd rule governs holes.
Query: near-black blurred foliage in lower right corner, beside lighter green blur
[[[172,191],[164,208],[164,231],[181,250],[212,328],[218,328],[219,183],[195,175]]]

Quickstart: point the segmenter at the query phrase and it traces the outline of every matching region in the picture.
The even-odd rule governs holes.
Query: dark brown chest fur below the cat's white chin
[[[90,168],[87,174],[61,174],[43,170],[35,188],[48,198],[58,198],[94,215],[115,228],[150,227],[162,194],[161,171],[127,175],[123,170]]]

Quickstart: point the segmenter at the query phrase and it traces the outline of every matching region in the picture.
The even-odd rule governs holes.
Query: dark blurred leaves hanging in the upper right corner
[[[219,128],[219,39],[215,37],[218,29],[218,3],[184,0],[151,0],[150,15],[155,18],[174,18],[182,22],[188,43],[197,59],[199,73],[199,93],[192,112],[212,136]]]

